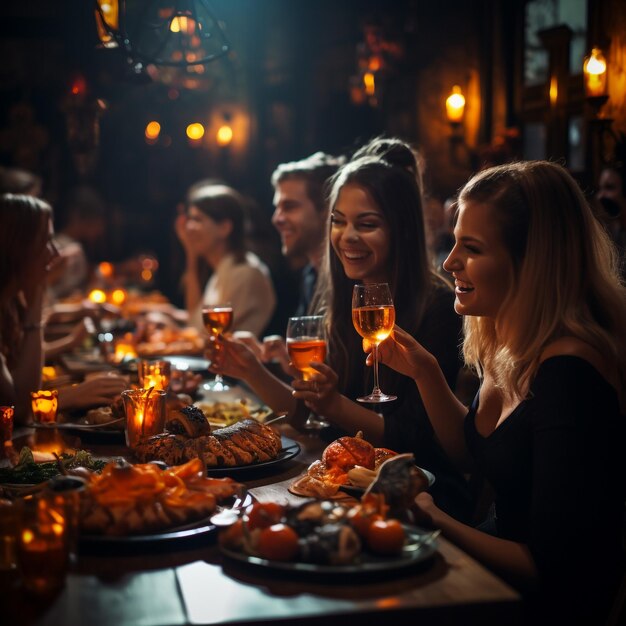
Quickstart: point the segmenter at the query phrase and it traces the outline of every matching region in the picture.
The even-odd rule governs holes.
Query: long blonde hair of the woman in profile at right
[[[617,371],[623,408],[626,289],[614,246],[576,181],[554,163],[510,163],[474,176],[459,195],[467,201],[492,207],[513,280],[496,321],[465,318],[466,361],[489,372],[507,398],[521,399],[546,346],[574,336]]]

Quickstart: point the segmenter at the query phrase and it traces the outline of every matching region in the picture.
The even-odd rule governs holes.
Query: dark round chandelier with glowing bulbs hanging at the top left
[[[188,68],[223,57],[230,43],[207,0],[94,0],[105,47],[122,48],[136,72]]]

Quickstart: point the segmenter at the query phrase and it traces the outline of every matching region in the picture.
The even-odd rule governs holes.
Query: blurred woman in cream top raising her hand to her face
[[[177,217],[175,228],[185,251],[188,323],[203,330],[203,305],[230,304],[230,330],[261,336],[276,307],[276,295],[267,266],[245,247],[241,195],[227,185],[203,186],[191,197],[186,213]],[[211,269],[206,285],[201,282],[200,261]]]

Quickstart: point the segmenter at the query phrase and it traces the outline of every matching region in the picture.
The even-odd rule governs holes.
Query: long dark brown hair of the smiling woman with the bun
[[[398,164],[397,156],[402,156]],[[394,145],[393,154],[358,157],[342,168],[331,181],[328,231],[332,210],[341,189],[358,185],[364,189],[383,212],[389,225],[389,261],[387,282],[396,309],[396,321],[409,332],[419,327],[437,278],[430,270],[422,196],[416,176],[406,167],[406,160],[415,164],[413,152],[407,145]],[[417,168],[417,164],[415,164]],[[340,377],[340,387],[350,383],[355,355],[362,355],[361,339],[352,326],[351,304],[354,281],[344,272],[330,244],[330,237],[320,268],[313,309],[327,315],[329,362]],[[394,378],[388,368],[381,373]],[[360,374],[359,374],[360,375]],[[355,375],[356,376],[356,375]]]

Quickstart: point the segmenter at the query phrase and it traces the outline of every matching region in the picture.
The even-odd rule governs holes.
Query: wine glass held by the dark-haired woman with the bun
[[[323,315],[290,317],[287,324],[287,352],[291,364],[300,372],[302,380],[311,380],[316,372],[311,361],[324,362],[326,358],[326,333]],[[330,424],[311,411],[305,428],[319,429]]]

